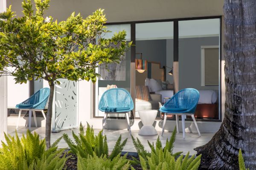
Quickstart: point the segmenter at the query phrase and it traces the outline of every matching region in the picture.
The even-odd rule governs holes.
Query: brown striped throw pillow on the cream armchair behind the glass
[[[136,102],[151,101],[147,85],[136,85]]]

